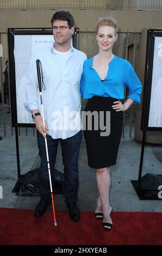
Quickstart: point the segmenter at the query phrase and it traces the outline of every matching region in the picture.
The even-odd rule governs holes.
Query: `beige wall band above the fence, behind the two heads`
[[[7,28],[51,27],[54,10],[41,11],[1,11],[0,33]],[[114,17],[122,32],[141,32],[147,27],[162,27],[161,12],[148,11],[114,11],[114,10],[71,10],[80,31],[95,31],[99,17]]]

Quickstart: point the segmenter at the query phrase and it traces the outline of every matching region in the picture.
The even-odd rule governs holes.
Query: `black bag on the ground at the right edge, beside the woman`
[[[160,185],[162,185],[162,174],[146,173],[141,177],[141,186],[146,197],[160,199],[158,197]]]

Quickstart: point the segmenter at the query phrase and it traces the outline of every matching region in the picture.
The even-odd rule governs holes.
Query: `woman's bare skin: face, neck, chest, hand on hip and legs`
[[[99,46],[99,53],[94,57],[92,68],[94,68],[101,80],[104,80],[108,74],[109,62],[114,58],[112,47],[117,40],[115,28],[111,26],[101,26],[98,29],[96,39]],[[114,101],[112,106],[116,112],[126,111],[134,101],[130,98],[122,104],[121,100]],[[110,167],[96,169],[96,180],[98,187],[98,200],[96,212],[103,212],[103,222],[113,223],[110,217],[112,208],[109,203],[110,191]],[[99,216],[98,216],[99,217]],[[105,226],[106,228],[110,228]]]

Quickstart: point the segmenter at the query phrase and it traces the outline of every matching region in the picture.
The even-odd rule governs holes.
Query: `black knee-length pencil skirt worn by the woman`
[[[86,142],[86,149],[88,154],[88,164],[92,168],[105,168],[116,164],[117,153],[122,135],[123,112],[116,112],[112,106],[113,102],[117,101],[112,97],[94,96],[88,100],[84,109],[86,113],[86,125],[84,124],[84,137]],[[96,111],[98,120],[92,118],[93,115],[88,115]],[[110,120],[108,111],[110,113]],[[102,113],[102,114],[101,114]],[[103,123],[104,122],[104,123]],[[90,123],[92,129],[90,130]],[[97,129],[98,123],[98,129]],[[102,124],[102,126],[101,126]],[[103,130],[103,127],[106,127]],[[108,129],[110,127],[110,129]],[[96,130],[97,129],[97,130]],[[109,130],[105,133],[105,131]],[[101,136],[101,132],[104,136]]]

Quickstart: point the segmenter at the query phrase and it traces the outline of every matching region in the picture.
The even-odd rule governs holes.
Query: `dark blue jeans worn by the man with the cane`
[[[51,192],[49,185],[45,139],[38,130],[37,139],[39,156],[41,157],[41,168],[39,174],[40,196],[41,199],[48,200],[51,198]],[[76,135],[67,139],[53,139],[51,136],[47,136],[48,157],[51,171],[55,166],[59,141],[61,143],[64,164],[63,196],[65,197],[65,203],[76,202],[78,200],[78,158],[80,144],[82,141],[82,131],[79,131]]]

